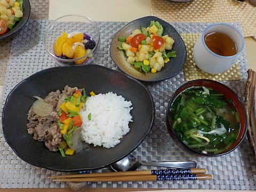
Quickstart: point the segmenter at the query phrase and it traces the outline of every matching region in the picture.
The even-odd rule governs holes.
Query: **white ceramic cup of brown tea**
[[[224,34],[219,43],[215,42],[215,45],[219,47],[210,47],[208,45],[210,47],[209,48],[206,45],[206,43],[208,43],[206,41],[216,41],[215,38],[217,37],[210,40],[207,39],[210,34]],[[234,43],[234,46],[231,46],[231,43],[230,41],[228,42],[228,40],[233,40],[232,42]],[[226,49],[224,50],[225,47]],[[234,49],[234,47],[236,51],[233,54],[225,54],[228,49]],[[216,49],[220,49],[220,52],[216,51]],[[197,39],[193,50],[193,58],[197,67],[201,70],[210,74],[219,74],[227,71],[235,64],[243,49],[244,37],[237,28],[227,23],[214,23],[208,26],[203,31],[202,35]]]

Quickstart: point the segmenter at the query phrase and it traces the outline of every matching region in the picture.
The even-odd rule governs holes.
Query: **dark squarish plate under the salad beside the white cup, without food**
[[[176,51],[177,54],[177,58],[171,58],[170,61],[165,64],[165,67],[155,74],[145,74],[135,69],[132,65],[126,62],[126,56],[124,55],[124,52],[118,50],[117,48],[119,45],[119,37],[127,37],[135,29],[148,27],[150,25],[150,21],[159,21],[161,23],[164,28],[164,35],[168,34],[174,39],[175,43],[173,44],[171,51]],[[110,46],[110,55],[119,69],[121,69],[127,75],[144,82],[157,82],[174,77],[181,71],[186,61],[187,50],[183,39],[172,25],[157,17],[148,16],[129,22],[115,34]]]

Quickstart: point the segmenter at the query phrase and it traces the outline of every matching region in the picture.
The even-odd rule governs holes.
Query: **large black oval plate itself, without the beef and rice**
[[[33,96],[44,98],[65,85],[84,87],[86,92],[111,91],[131,101],[130,132],[114,148],[90,146],[65,158],[50,152],[27,133],[27,113],[35,102]],[[154,114],[153,98],[146,86],[124,73],[98,65],[56,67],[39,71],[14,87],[3,108],[2,126],[6,142],[23,161],[54,171],[85,171],[101,169],[130,154],[150,132]]]

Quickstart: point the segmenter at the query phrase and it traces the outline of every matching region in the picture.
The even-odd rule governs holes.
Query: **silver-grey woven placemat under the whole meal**
[[[10,59],[6,70],[1,109],[7,95],[13,87],[39,70],[57,66],[44,50],[43,31],[49,24],[47,20],[30,20],[19,36],[13,39]],[[114,34],[126,22],[97,22],[101,33],[101,44],[94,64],[119,70],[111,61],[109,51]],[[171,23],[180,34],[201,33],[207,23]],[[237,23],[235,26],[239,27]],[[27,41],[24,41],[27,39]],[[244,50],[239,62],[241,81],[226,81],[224,84],[243,98],[247,79],[247,59]],[[186,82],[183,70],[170,79],[162,82],[146,83],[155,103],[155,121],[148,137],[133,151],[140,161],[196,161],[198,167],[207,169],[213,175],[212,180],[180,180],[180,181],[139,181],[139,182],[93,182],[89,188],[157,188],[157,189],[237,189],[256,190],[256,160],[247,139],[231,153],[221,157],[201,157],[191,155],[182,150],[169,136],[165,126],[165,110],[169,99],[178,87]],[[1,119],[1,117],[0,117]],[[26,127],[25,127],[26,129]],[[68,187],[66,183],[52,182],[50,175],[65,173],[41,169],[23,162],[4,140],[0,132],[0,188],[58,188]],[[140,167],[157,169],[157,167]],[[109,167],[93,171],[108,172]],[[122,189],[120,189],[122,191]]]

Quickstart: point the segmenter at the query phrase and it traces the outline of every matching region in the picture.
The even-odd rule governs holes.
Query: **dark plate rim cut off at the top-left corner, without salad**
[[[0,40],[14,35],[15,33],[17,33],[20,29],[22,29],[26,25],[26,23],[29,19],[29,16],[30,16],[29,0],[23,0],[22,7],[23,7],[23,11],[22,11],[23,17],[21,18],[21,20],[16,22],[12,29],[8,29],[5,34],[0,35]]]

